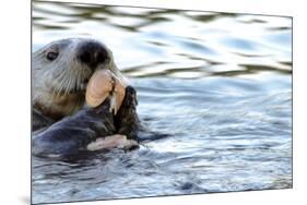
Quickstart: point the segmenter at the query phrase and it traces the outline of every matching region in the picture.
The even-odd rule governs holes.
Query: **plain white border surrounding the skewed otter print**
[[[85,2],[85,0],[70,0]],[[306,5],[302,0],[86,0],[105,3],[294,16],[294,189],[101,201],[87,204],[304,204],[306,192]],[[1,2],[1,204],[29,204],[29,0]],[[299,111],[298,111],[299,110]],[[27,133],[27,134],[25,134]],[[4,142],[3,142],[4,141]],[[71,204],[71,203],[69,203]]]

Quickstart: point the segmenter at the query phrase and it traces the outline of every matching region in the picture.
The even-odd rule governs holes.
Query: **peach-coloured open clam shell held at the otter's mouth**
[[[125,85],[109,70],[97,70],[86,87],[86,104],[95,108],[107,97],[110,97],[110,111],[117,113],[125,97]]]

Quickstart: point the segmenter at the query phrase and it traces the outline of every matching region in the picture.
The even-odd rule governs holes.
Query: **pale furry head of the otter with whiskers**
[[[34,108],[54,120],[73,113],[83,106],[86,84],[97,69],[126,81],[111,51],[97,40],[68,38],[40,48],[32,56]]]

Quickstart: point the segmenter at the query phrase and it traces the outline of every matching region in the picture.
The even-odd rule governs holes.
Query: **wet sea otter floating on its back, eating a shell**
[[[87,83],[97,70],[110,71],[126,87],[123,101],[116,114],[106,111],[108,100],[102,104],[98,117],[93,116],[95,109],[84,107]],[[117,69],[111,51],[101,41],[67,38],[52,41],[33,53],[32,130],[35,154],[46,150],[48,154],[66,154],[84,147],[97,149],[104,147],[104,141],[95,142],[102,134],[116,135],[119,141],[125,141],[126,137],[142,141],[166,136],[150,132],[141,124],[137,104],[135,89]],[[105,130],[90,128],[92,120],[106,126]],[[68,125],[72,126],[71,130],[67,129]],[[75,133],[80,126],[80,133]],[[55,128],[60,128],[60,131],[55,132]],[[57,132],[61,132],[61,129],[63,132],[70,130],[71,134],[58,137]],[[81,134],[82,132],[85,133]],[[78,137],[80,134],[84,136],[81,140]],[[74,149],[76,144],[78,148]]]

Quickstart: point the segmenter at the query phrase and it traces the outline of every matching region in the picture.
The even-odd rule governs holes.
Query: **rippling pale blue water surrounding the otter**
[[[292,188],[292,20],[34,2],[33,49],[93,36],[172,136],[75,161],[33,158],[33,202]]]

